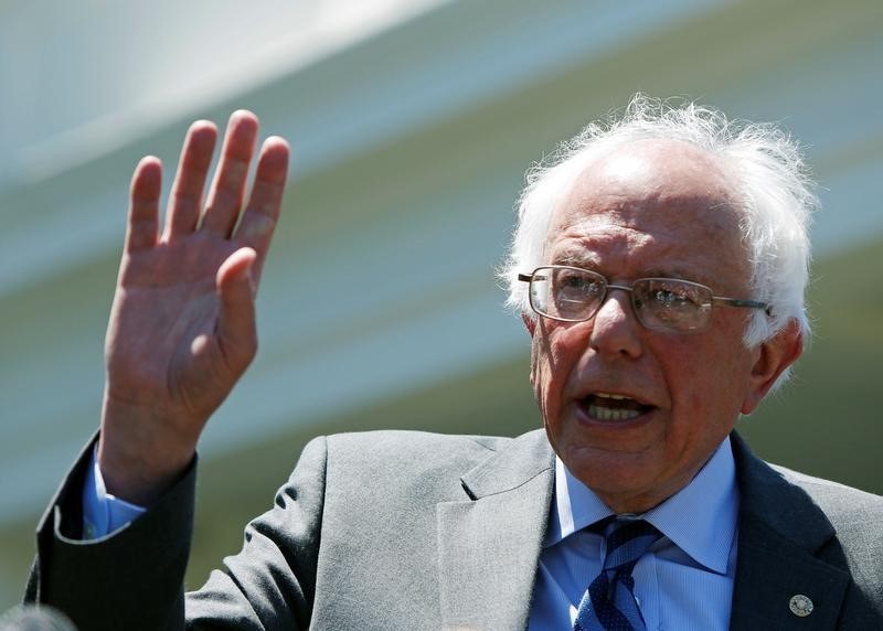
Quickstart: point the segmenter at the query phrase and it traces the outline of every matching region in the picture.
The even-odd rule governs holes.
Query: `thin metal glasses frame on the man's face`
[[[544,311],[541,311],[533,303],[533,291],[532,291],[533,287],[532,286],[533,286],[533,282],[535,280],[536,274],[540,270],[543,270],[543,269],[550,269],[550,270],[554,270],[554,269],[571,269],[571,270],[574,270],[574,271],[581,271],[581,272],[585,272],[585,274],[589,274],[589,275],[594,276],[595,278],[598,279],[598,281],[604,284],[604,293],[602,295],[602,298],[600,298],[600,301],[598,302],[598,306],[595,308],[594,311],[592,311],[585,318],[561,318],[561,317],[551,316],[549,313],[545,313]],[[700,289],[706,290],[709,292],[709,295],[711,296],[711,307],[712,308],[714,306],[721,306],[721,307],[736,307],[736,308],[740,308],[740,309],[763,309],[764,312],[767,316],[772,316],[773,314],[773,307],[767,302],[759,302],[757,300],[745,300],[743,298],[728,298],[728,297],[725,297],[725,296],[714,296],[714,292],[712,291],[711,287],[709,287],[706,285],[702,285],[701,282],[693,282],[692,280],[684,280],[682,278],[663,278],[663,277],[638,278],[635,281],[632,281],[631,285],[619,285],[619,284],[610,282],[609,280],[607,280],[607,278],[603,274],[598,274],[597,271],[592,270],[592,269],[585,269],[583,267],[575,267],[575,266],[572,266],[572,265],[541,265],[540,267],[538,267],[536,269],[534,269],[530,274],[519,274],[518,275],[518,279],[520,281],[522,281],[522,282],[528,282],[529,284],[528,285],[528,298],[529,298],[529,301],[530,301],[531,309],[536,314],[542,316],[543,318],[549,318],[550,320],[556,320],[558,322],[585,322],[587,320],[592,320],[595,316],[598,314],[598,311],[600,311],[600,308],[604,307],[605,302],[607,302],[607,298],[610,295],[610,290],[611,289],[619,289],[621,291],[627,291],[628,293],[631,295],[631,301],[630,302],[631,302],[631,309],[635,311],[635,317],[637,318],[638,322],[641,323],[641,327],[643,327],[646,329],[650,329],[651,331],[661,331],[661,332],[666,332],[666,333],[699,333],[699,332],[704,331],[705,329],[708,329],[709,325],[711,324],[712,309],[709,309],[709,317],[708,317],[708,320],[705,321],[705,324],[703,327],[698,327],[695,329],[689,329],[689,330],[685,330],[685,331],[680,331],[678,329],[648,327],[645,323],[643,318],[641,318],[641,304],[638,304],[637,303],[637,299],[635,298],[635,285],[638,284],[638,282],[642,282],[642,281],[662,281],[662,282],[677,281],[677,282],[683,282],[685,285],[690,285],[692,287],[698,287]]]

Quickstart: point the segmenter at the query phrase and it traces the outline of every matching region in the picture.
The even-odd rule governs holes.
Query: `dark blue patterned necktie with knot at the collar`
[[[597,526],[604,528],[607,555],[598,578],[592,581],[579,602],[574,631],[646,630],[635,600],[631,570],[662,533],[640,517],[610,517]]]

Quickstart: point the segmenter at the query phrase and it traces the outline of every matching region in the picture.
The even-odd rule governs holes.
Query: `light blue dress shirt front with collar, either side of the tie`
[[[573,629],[598,576],[604,537],[586,530],[613,512],[556,458],[549,528],[530,631]],[[635,566],[635,596],[648,630],[725,630],[736,569],[738,490],[727,437],[691,482],[643,515],[664,535]]]

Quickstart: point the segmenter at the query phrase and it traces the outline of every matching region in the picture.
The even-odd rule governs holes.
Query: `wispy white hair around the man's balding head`
[[[818,206],[815,182],[801,149],[770,124],[728,120],[719,110],[692,101],[672,105],[637,94],[620,114],[592,122],[557,151],[534,164],[518,201],[518,223],[500,278],[507,304],[531,318],[528,291],[518,280],[546,265],[544,247],[554,211],[596,159],[637,140],[689,142],[716,157],[735,183],[740,226],[752,266],[749,297],[768,303],[755,312],[744,340],[755,346],[797,322],[805,340],[809,320],[804,295],[809,278],[808,225]]]

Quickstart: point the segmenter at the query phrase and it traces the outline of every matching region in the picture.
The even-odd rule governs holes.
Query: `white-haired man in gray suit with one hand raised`
[[[181,590],[196,441],[255,352],[287,146],[230,122],[131,189],[102,431],[40,526],[29,598],[84,629],[872,629],[881,498],[734,432],[808,335],[795,146],[638,96],[529,175],[502,272],[545,431],[312,441],[242,552]],[[238,222],[238,223],[237,223]]]

